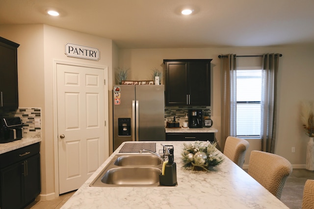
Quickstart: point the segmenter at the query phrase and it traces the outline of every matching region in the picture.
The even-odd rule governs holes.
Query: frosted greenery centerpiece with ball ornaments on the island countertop
[[[195,141],[183,143],[181,153],[183,168],[194,171],[209,171],[223,162],[221,153],[216,149],[217,142]]]

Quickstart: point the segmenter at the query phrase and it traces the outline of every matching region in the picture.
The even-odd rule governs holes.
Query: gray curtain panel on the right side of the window
[[[276,141],[277,74],[279,54],[262,57],[262,151],[274,153]]]

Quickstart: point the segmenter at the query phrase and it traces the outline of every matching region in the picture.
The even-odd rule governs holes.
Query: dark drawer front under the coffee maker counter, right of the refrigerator
[[[213,141],[214,133],[166,133],[167,141]]]

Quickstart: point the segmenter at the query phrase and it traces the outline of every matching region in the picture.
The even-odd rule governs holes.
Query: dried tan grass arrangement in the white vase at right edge
[[[305,134],[314,137],[314,104],[313,101],[302,102],[301,121]]]

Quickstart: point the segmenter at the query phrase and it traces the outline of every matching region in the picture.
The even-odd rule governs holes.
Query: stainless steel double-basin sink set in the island
[[[116,155],[89,185],[94,187],[161,186],[162,161],[154,155]]]

